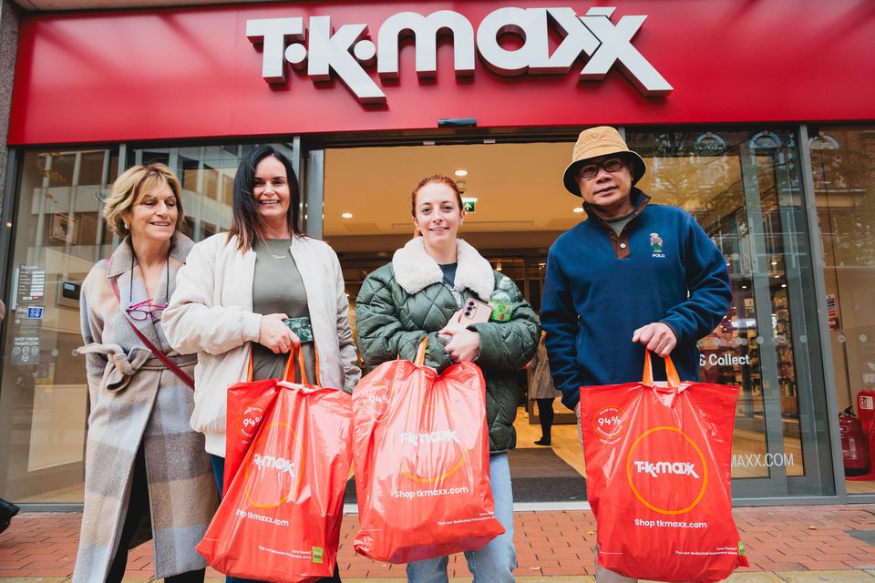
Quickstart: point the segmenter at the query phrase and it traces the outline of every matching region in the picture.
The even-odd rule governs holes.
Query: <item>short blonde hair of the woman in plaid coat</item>
[[[160,163],[139,164],[129,168],[112,183],[112,191],[103,208],[103,216],[107,220],[109,230],[122,237],[127,235],[129,230],[125,227],[124,215],[146,194],[162,188],[165,184],[176,197],[176,230],[180,230],[185,221],[185,212],[182,210],[182,185],[173,170]]]

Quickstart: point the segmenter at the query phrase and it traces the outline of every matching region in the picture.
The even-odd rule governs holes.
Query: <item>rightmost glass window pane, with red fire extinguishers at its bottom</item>
[[[846,486],[875,493],[875,128],[810,138]],[[852,410],[849,408],[852,407]]]

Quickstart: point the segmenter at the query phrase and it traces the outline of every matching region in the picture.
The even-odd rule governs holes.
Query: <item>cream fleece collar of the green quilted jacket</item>
[[[476,249],[464,240],[456,240],[458,266],[456,268],[456,289],[461,292],[470,290],[486,301],[495,289],[495,276],[489,261],[483,259]],[[405,292],[417,293],[432,283],[444,279],[443,271],[438,267],[438,261],[426,252],[422,237],[407,241],[407,244],[395,251],[392,258],[392,269],[395,279]]]

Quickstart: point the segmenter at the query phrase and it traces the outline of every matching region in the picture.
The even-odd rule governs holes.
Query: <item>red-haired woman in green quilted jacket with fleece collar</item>
[[[367,369],[398,357],[413,360],[419,343],[427,338],[425,363],[438,372],[452,363],[479,364],[486,379],[495,516],[505,532],[465,557],[476,581],[513,581],[517,560],[508,450],[516,444],[513,420],[523,388],[519,371],[538,347],[540,322],[508,280],[514,305],[508,321],[467,327],[449,324],[468,298],[487,302],[503,276],[474,247],[458,239],[465,211],[452,179],[438,175],[422,179],[410,199],[414,238],[395,252],[390,263],[370,273],[358,293],[359,353]],[[446,582],[447,566],[448,557],[408,563],[407,580]]]

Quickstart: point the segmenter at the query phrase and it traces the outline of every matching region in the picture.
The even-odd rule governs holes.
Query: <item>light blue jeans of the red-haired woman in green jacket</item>
[[[495,499],[495,517],[504,527],[504,534],[493,538],[480,550],[465,551],[468,570],[474,583],[505,583],[514,581],[517,550],[513,547],[513,490],[510,488],[508,455],[489,455],[489,476],[492,497]],[[409,583],[448,583],[449,557],[428,558],[407,563]]]

